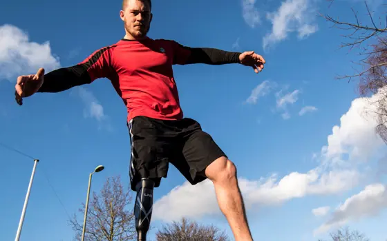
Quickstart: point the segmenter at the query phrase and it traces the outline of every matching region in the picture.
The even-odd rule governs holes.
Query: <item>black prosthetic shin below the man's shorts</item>
[[[154,185],[153,180],[143,178],[136,186],[137,197],[135,198],[134,216],[138,241],[147,240],[147,232],[151,224]]]

